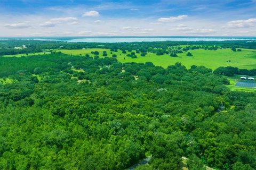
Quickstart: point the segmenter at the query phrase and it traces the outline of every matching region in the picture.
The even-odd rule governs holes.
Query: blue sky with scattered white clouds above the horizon
[[[0,36],[256,36],[256,0],[0,0]]]

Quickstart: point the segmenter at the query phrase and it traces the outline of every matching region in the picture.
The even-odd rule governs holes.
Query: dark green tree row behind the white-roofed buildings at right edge
[[[256,76],[256,69],[252,70],[247,70],[247,69],[238,69],[237,67],[218,67],[216,70],[213,71],[215,74],[223,74],[227,75],[229,77],[232,77],[235,74],[240,74],[240,75],[249,75],[249,76]]]

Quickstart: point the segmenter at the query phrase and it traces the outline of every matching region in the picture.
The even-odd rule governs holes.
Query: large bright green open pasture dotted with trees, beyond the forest
[[[90,56],[94,56],[91,54],[92,51],[97,50],[100,53],[100,57],[102,56],[102,52],[106,50],[108,57],[111,57],[109,49],[102,48],[91,48],[91,49],[73,49],[73,50],[57,50],[57,52],[62,52],[65,54],[72,55],[82,55],[89,54]],[[169,65],[174,65],[176,62],[181,62],[187,68],[190,68],[191,65],[204,65],[211,69],[217,69],[219,66],[233,66],[238,67],[239,69],[255,69],[256,68],[256,50],[253,49],[242,49],[241,52],[233,52],[230,48],[226,49],[218,49],[218,50],[204,50],[204,49],[195,49],[189,50],[188,52],[192,53],[192,57],[186,56],[187,53],[178,54],[178,57],[171,57],[170,55],[161,55],[157,56],[153,53],[147,53],[145,57],[141,57],[140,54],[136,54],[137,58],[127,57],[126,54],[130,54],[131,52],[127,52],[123,54],[121,50],[118,52],[112,52],[117,55],[117,60],[122,63],[128,62],[137,62],[137,63],[145,63],[152,62],[154,65],[167,67]],[[231,62],[227,62],[231,61]]]

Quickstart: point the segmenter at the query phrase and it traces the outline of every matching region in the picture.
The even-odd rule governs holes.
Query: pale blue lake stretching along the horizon
[[[0,37],[1,39],[2,37]],[[42,41],[67,41],[71,43],[131,43],[131,42],[153,42],[153,41],[229,41],[247,40],[256,41],[256,37],[185,37],[185,36],[160,36],[160,37],[3,37],[8,39],[42,40]]]

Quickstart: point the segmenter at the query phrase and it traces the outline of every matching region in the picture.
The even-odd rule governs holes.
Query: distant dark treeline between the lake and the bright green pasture
[[[26,45],[24,49],[14,49]],[[156,42],[133,42],[133,43],[68,43],[65,41],[39,41],[39,40],[0,40],[0,56],[22,53],[42,52],[44,49],[83,49],[83,48],[107,48],[121,50],[140,50],[150,52],[159,49],[159,54],[166,52],[171,46],[188,45],[189,49],[204,48],[217,50],[218,48],[250,48],[256,49],[256,42],[246,40],[236,41],[156,41]],[[186,47],[188,48],[188,47]],[[188,49],[183,50],[188,50]],[[163,50],[163,52],[161,52]],[[171,53],[170,53],[171,54]]]

